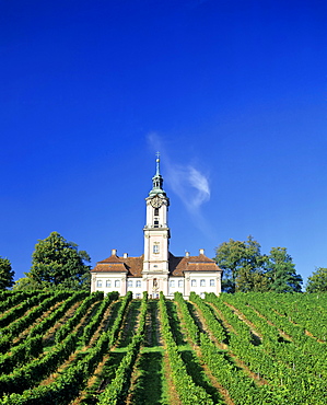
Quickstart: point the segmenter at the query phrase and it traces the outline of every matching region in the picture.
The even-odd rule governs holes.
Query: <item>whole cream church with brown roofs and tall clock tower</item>
[[[144,252],[139,257],[129,257],[124,253],[112,255],[91,270],[91,291],[127,291],[133,298],[141,298],[148,291],[150,298],[159,298],[163,291],[166,298],[173,298],[179,291],[188,298],[190,291],[203,297],[205,292],[221,292],[222,270],[214,261],[205,255],[202,248],[197,256],[186,252],[185,256],[174,256],[170,252],[171,232],[168,228],[170,199],[163,189],[160,174],[160,159],[156,159],[156,173],[152,178],[152,189],[145,198],[147,223],[144,232]]]

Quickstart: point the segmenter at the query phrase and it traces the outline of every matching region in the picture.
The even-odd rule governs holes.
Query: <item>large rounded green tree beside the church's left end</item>
[[[58,232],[45,240],[38,240],[33,253],[32,268],[27,275],[40,287],[47,284],[54,288],[90,288],[90,262],[85,251],[66,241]]]

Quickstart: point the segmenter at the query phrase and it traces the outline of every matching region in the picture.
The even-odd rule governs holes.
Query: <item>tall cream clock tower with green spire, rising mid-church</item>
[[[152,189],[147,201],[147,223],[144,231],[143,278],[148,280],[148,292],[156,297],[156,292],[167,290],[168,278],[168,206],[170,199],[163,189],[163,177],[160,174],[160,154],[156,153],[156,171],[152,177]]]

